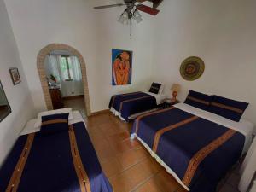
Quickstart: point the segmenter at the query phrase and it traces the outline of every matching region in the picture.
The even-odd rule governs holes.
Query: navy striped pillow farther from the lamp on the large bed
[[[247,102],[238,102],[221,96],[213,96],[208,111],[239,122],[241,115],[247,109],[248,105],[249,103]]]

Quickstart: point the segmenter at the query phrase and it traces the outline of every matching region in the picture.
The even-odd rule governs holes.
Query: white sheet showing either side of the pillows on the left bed
[[[84,122],[84,119],[83,119],[83,117],[82,117],[82,115],[79,111],[73,111],[72,114],[73,114],[73,119],[68,121],[69,125],[75,124],[75,123],[78,123],[78,122]],[[26,123],[26,126],[24,127],[24,129],[20,132],[20,136],[26,135],[26,134],[29,134],[29,133],[32,133],[32,132],[40,131],[40,129],[41,129],[40,126],[39,127],[34,127],[36,122],[37,122],[37,119],[29,120]],[[85,122],[84,122],[84,124],[85,124]],[[85,127],[86,127],[86,124],[85,124]]]

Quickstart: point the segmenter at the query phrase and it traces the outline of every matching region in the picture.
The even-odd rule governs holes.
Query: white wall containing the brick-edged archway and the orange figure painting
[[[45,109],[36,59],[47,44],[69,44],[84,56],[92,112],[108,108],[110,96],[148,88],[151,74],[149,21],[145,20],[129,39],[129,28],[117,22],[124,8],[96,11],[93,6],[114,1],[94,0],[6,0],[20,58],[32,99],[38,111]],[[96,3],[95,3],[96,2]],[[134,51],[132,85],[111,86],[111,49]]]

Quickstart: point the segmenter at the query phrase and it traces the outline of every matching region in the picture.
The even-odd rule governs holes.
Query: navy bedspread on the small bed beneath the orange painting
[[[109,102],[109,108],[114,108],[125,120],[128,120],[132,114],[142,113],[156,107],[157,103],[154,96],[143,92],[115,95],[111,97]]]

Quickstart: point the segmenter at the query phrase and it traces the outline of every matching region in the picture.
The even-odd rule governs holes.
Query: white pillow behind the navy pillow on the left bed
[[[56,110],[50,110],[50,111],[44,111],[38,113],[38,119],[37,122],[35,123],[34,127],[40,127],[42,124],[42,116],[47,116],[51,114],[62,114],[62,113],[69,113],[68,114],[68,120],[73,119],[73,114],[72,114],[72,108],[61,108],[61,109],[56,109]]]

